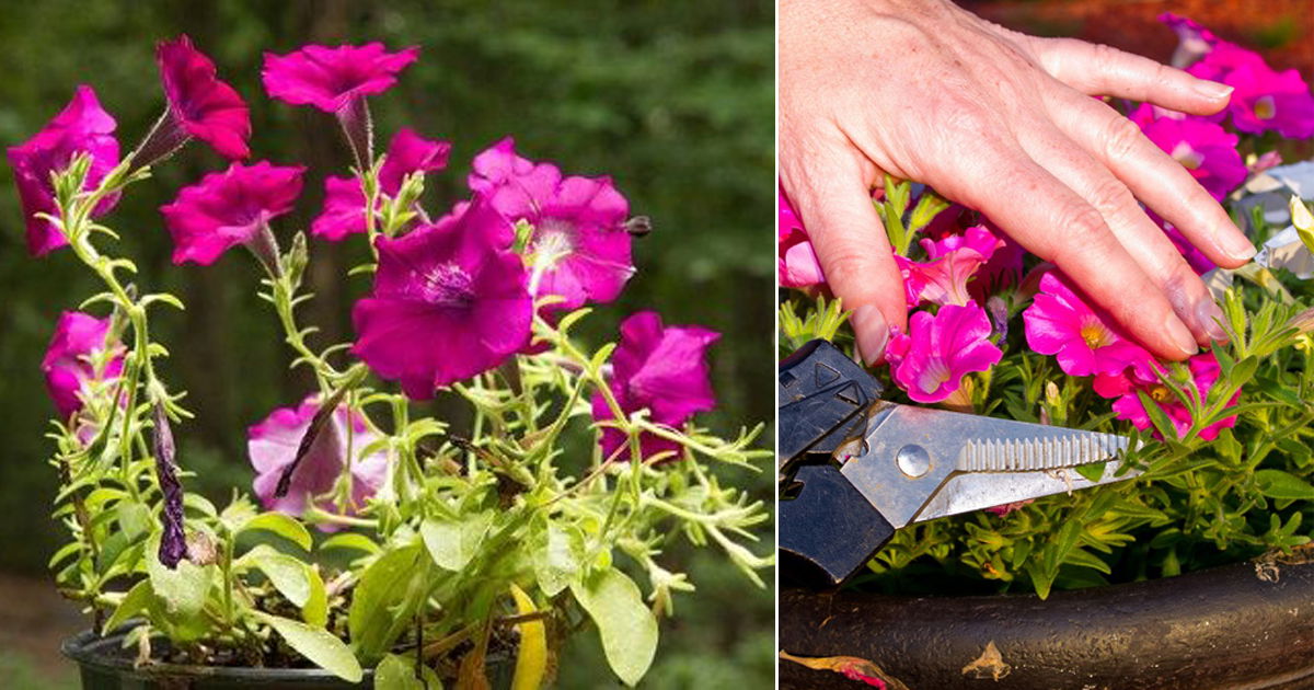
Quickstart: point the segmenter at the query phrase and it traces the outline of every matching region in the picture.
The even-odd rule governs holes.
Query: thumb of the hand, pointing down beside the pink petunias
[[[862,359],[874,364],[884,355],[890,329],[907,329],[903,276],[871,204],[870,171],[857,152],[830,158],[837,162],[808,160],[802,173],[782,167],[782,184],[808,229],[827,284],[853,311]]]

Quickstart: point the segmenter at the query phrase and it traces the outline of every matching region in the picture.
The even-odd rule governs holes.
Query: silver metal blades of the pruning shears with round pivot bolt
[[[993,502],[979,507],[989,507],[1068,488],[1062,478],[1059,485],[1029,484],[1022,481],[1026,473],[1114,460],[1126,447],[1126,439],[1110,434],[878,402],[869,411],[862,438],[841,448],[853,457],[840,472],[899,528],[913,519],[930,519],[924,517],[929,514],[924,507],[955,473],[993,477],[983,485],[988,489],[970,492],[988,494]],[[1039,476],[1045,478],[1043,473]],[[1072,476],[1074,488],[1091,485],[1077,481],[1080,474]],[[953,510],[942,514],[950,515],[974,510],[957,506],[976,505],[984,498],[967,501],[964,495],[945,501],[950,501]]]

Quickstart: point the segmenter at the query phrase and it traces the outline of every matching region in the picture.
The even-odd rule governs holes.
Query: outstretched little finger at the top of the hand
[[[1033,38],[1031,47],[1054,79],[1091,96],[1152,103],[1190,114],[1214,114],[1233,88],[1198,79],[1150,58],[1075,38]]]

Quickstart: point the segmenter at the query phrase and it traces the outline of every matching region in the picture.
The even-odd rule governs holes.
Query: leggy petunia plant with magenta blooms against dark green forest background
[[[466,198],[431,213],[426,176],[451,145],[401,129],[376,155],[368,105],[418,57],[380,43],[265,55],[268,96],[328,113],[353,162],[327,176],[306,229],[288,221],[306,168],[248,162],[247,104],[185,35],[158,47],[163,114],[126,155],[87,85],[9,149],[32,254],[67,247],[104,285],[60,317],[41,364],[58,413],[55,517],[71,534],[51,568],[138,665],[528,689],[551,683],[562,641],[591,624],[633,685],[658,620],[694,589],[664,559],[671,541],[719,549],[763,585],[771,557],[749,547],[769,513],[720,469],[770,455],[762,426],[725,439],[695,422],[716,406],[719,334],[644,310],[616,342],[576,335],[633,276],[649,221],[608,177],[564,175],[510,138],[476,156]],[[166,382],[171,354],[151,330],[184,305],[116,254],[106,219],[192,139],[230,163],[159,209],[173,263],[246,255],[314,381],[252,421],[254,498],[222,506],[185,490],[175,427],[205,410]],[[351,342],[321,342],[300,318],[321,242],[369,248],[343,275],[364,292]],[[439,393],[473,422],[435,417],[424,401]]]

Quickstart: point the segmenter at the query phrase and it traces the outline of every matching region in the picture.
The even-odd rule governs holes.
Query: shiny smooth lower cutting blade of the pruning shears
[[[1139,469],[1129,468],[1118,476],[1121,467],[1120,460],[1110,460],[1104,465],[1104,474],[1097,481],[1091,481],[1068,467],[1037,472],[954,474],[945,481],[940,492],[926,502],[912,522],[933,520],[1042,495],[1072,493],[1141,474]]]

